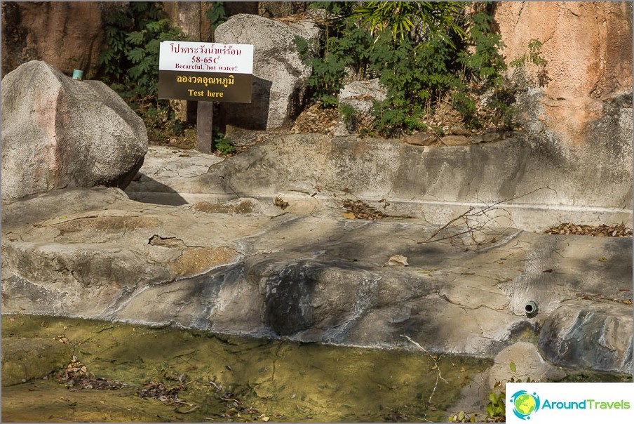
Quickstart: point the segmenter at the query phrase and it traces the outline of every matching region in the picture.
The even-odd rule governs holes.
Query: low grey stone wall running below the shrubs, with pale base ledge
[[[154,162],[153,154],[148,164]],[[187,164],[188,159],[175,155],[172,160]],[[611,145],[606,140],[602,150],[564,154],[556,143],[520,133],[497,143],[457,147],[278,135],[191,178],[156,173],[152,178],[169,186],[170,192],[158,192],[160,185],[154,192],[130,185],[128,194],[156,202],[180,197],[190,203],[236,197],[267,198],[272,203],[283,194],[288,202],[292,197],[311,204],[318,201],[311,213],[331,217],[345,212],[342,201],[349,196],[391,216],[440,225],[470,205],[482,211],[506,199],[490,210],[499,225],[543,231],[566,222],[630,222],[631,161],[626,138],[612,140]]]

